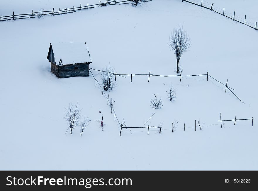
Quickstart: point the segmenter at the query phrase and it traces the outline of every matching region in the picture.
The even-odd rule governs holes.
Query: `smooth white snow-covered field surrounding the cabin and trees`
[[[217,1],[225,8],[232,2]],[[45,2],[53,6],[54,1]],[[28,4],[19,6],[21,13]],[[234,8],[252,12],[254,7],[237,1]],[[133,76],[130,82],[130,76],[117,76],[117,87],[106,93],[115,100],[119,121],[124,118],[127,126],[143,126],[155,112],[145,126],[163,123],[160,134],[123,129],[119,136],[119,125],[91,74],[57,79],[46,60],[50,42],[83,41],[91,54],[91,68],[101,70],[110,63],[120,74],[175,75],[176,58],[167,42],[178,25],[184,26],[192,41],[180,60],[182,75],[208,71],[223,83],[228,79],[245,104],[225,93],[225,86],[211,78],[206,81],[206,76],[182,77],[181,83],[179,77],[151,76],[148,82],[148,76]],[[1,22],[0,31],[1,170],[258,169],[258,33],[254,29],[181,1],[155,0],[138,7],[114,5]],[[91,71],[99,80],[101,72]],[[166,99],[170,83],[177,97],[172,103]],[[153,94],[162,98],[161,109],[150,107]],[[66,136],[65,107],[77,102],[91,123],[82,137],[79,128]],[[254,117],[254,127],[252,121],[237,121],[235,126],[234,121],[226,121],[221,129],[220,112],[222,119]],[[172,133],[174,120],[179,125]],[[205,123],[202,131],[192,128],[195,120]],[[191,128],[184,131],[184,124]]]

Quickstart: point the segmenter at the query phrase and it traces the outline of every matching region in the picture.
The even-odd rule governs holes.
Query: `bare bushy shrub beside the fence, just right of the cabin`
[[[102,72],[101,82],[105,91],[112,90],[115,87],[114,79],[114,69],[112,66],[108,65],[106,68],[102,69],[105,72]]]

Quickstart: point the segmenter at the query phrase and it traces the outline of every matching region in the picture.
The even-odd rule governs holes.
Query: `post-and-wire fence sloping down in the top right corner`
[[[197,6],[209,9],[211,11],[214,11],[215,13],[218,13],[227,18],[230,18],[233,21],[240,22],[240,23],[242,23],[248,27],[251,27],[257,31],[257,22],[253,23],[253,22],[247,21],[246,15],[242,15],[242,17],[239,17],[235,14],[235,11],[234,11],[234,13],[227,12],[227,11],[225,11],[225,8],[221,9],[219,7],[214,6],[214,3],[209,3],[209,2],[203,1],[203,0],[182,0],[182,2],[183,1],[187,2],[188,4],[197,5]]]

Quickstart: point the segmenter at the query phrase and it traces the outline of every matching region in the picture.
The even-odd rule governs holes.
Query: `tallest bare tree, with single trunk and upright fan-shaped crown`
[[[187,36],[183,27],[177,27],[174,29],[169,37],[169,47],[175,51],[176,54],[176,73],[179,74],[179,60],[181,55],[188,51],[191,46],[191,40]]]

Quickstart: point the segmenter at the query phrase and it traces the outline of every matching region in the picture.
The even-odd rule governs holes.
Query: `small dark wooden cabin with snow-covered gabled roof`
[[[58,78],[89,76],[91,58],[86,42],[50,43],[47,60]]]

